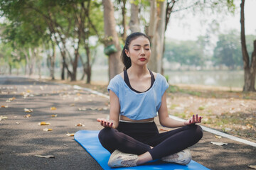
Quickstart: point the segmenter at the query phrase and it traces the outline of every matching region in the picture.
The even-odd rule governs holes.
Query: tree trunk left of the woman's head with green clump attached
[[[115,30],[116,23],[114,21],[114,7],[111,0],[102,0],[104,6],[104,31],[105,38],[112,38],[112,42],[106,43],[105,46],[113,44],[117,48],[117,52],[109,56],[109,79],[122,72],[122,63],[120,60],[121,47]]]

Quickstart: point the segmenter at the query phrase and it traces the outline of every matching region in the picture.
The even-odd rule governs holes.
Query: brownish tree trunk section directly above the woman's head
[[[131,19],[129,21],[129,29],[131,33],[139,32],[139,7],[131,3]]]

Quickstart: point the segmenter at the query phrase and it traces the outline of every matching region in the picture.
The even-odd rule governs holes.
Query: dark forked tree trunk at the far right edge
[[[256,74],[256,56],[255,56],[255,43],[254,50],[252,52],[252,60],[250,64],[250,58],[246,48],[245,40],[245,0],[242,0],[241,4],[241,46],[242,46],[242,60],[244,65],[244,86],[242,91],[255,91],[255,74]]]

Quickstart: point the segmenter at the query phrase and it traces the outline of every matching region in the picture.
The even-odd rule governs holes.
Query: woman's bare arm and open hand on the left
[[[117,128],[119,123],[120,104],[119,98],[110,90],[110,120],[105,118],[97,118],[104,128]]]

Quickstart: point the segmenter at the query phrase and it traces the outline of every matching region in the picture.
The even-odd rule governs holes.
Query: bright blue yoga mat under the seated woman
[[[110,158],[110,152],[107,151],[98,140],[97,130],[80,130],[75,133],[75,141],[77,141],[83,148],[102,166],[102,169],[112,169],[107,165]],[[171,169],[171,170],[209,170],[205,166],[194,162],[193,160],[188,165],[171,164],[168,162],[153,161],[147,164],[134,166],[134,167],[122,167],[114,169],[129,169],[129,170],[151,170],[151,169]]]

